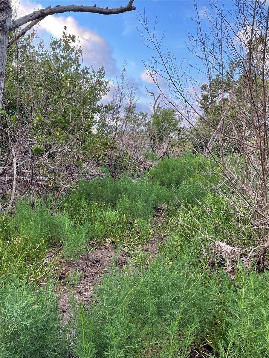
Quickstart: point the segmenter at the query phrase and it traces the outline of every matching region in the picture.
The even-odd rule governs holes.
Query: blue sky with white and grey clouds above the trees
[[[48,5],[88,5],[109,8],[125,6],[128,0],[20,0],[16,1],[14,7],[18,9],[18,17],[31,13]],[[157,92],[157,88],[152,83],[152,79],[147,75],[143,61],[151,58],[153,51],[146,47],[140,34],[142,26],[139,19],[144,13],[150,21],[149,27],[153,29],[155,19],[157,19],[157,36],[165,34],[163,40],[164,47],[169,48],[177,57],[178,63],[188,63],[199,67],[199,61],[188,49],[188,31],[196,33],[196,24],[192,20],[195,17],[193,1],[184,0],[135,0],[135,11],[117,15],[99,15],[91,13],[63,13],[48,16],[42,20],[38,34],[43,35],[45,41],[49,43],[51,37],[59,38],[62,35],[63,27],[67,26],[67,33],[75,34],[83,46],[84,62],[88,66],[104,66],[106,78],[115,82],[119,76],[123,63],[127,62],[127,76],[130,82],[137,85],[139,96],[138,110],[150,112],[151,98],[146,95],[145,86]],[[232,1],[226,1],[225,6],[230,8]],[[197,9],[199,15],[204,15],[205,28],[210,26],[207,16],[210,16],[209,1],[198,1]],[[210,30],[210,29],[209,29]],[[189,67],[192,76],[199,77],[203,82],[203,76],[194,67]],[[205,79],[204,79],[205,81]],[[112,86],[113,87],[113,86]],[[109,96],[108,96],[109,99]]]

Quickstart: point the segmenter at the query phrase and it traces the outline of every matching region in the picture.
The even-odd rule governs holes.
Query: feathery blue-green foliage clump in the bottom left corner
[[[35,293],[13,276],[0,289],[0,357],[65,358],[68,349],[51,282]]]

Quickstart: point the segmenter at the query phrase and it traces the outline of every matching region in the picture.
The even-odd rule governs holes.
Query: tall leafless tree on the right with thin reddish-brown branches
[[[217,164],[228,186],[226,191],[219,187],[219,193],[253,223],[253,242],[244,252],[261,263],[269,248],[269,8],[266,1],[237,0],[233,10],[224,13],[223,5],[210,4],[210,15],[205,12],[202,16],[194,4],[197,34],[189,34],[190,50],[207,77],[209,115],[199,106],[201,83],[190,76],[183,63],[177,64],[169,50],[163,52],[164,37],[157,37],[156,24],[151,31],[146,15],[141,17],[141,34],[155,54],[145,65],[148,73],[155,74],[152,80],[162,101],[181,113],[191,132],[203,142],[202,154]],[[210,23],[210,32],[203,28],[204,17]],[[196,65],[187,63],[186,67]],[[167,90],[163,83],[158,84],[156,76],[162,77]],[[216,76],[221,80],[217,98],[213,87]],[[216,104],[218,111],[214,110]],[[197,118],[213,129],[209,142],[195,126]]]

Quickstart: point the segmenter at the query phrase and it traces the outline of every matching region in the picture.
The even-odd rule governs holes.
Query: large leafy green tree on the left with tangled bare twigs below
[[[46,47],[43,40],[33,45],[32,37],[9,48],[6,61],[0,111],[0,175],[6,190],[0,196],[10,203],[11,191],[21,196],[49,191],[56,198],[91,173],[105,131],[95,129],[109,110],[100,103],[109,91],[105,71],[84,66],[74,35],[65,28]],[[12,176],[20,179],[12,183],[7,179]],[[34,179],[40,177],[46,179]]]

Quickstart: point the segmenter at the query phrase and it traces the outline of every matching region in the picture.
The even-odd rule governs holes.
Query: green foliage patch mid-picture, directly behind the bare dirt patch
[[[170,200],[170,193],[146,178],[133,181],[126,176],[112,180],[82,181],[65,198],[65,210],[76,225],[89,223],[94,240],[143,243],[151,230],[154,208]]]

